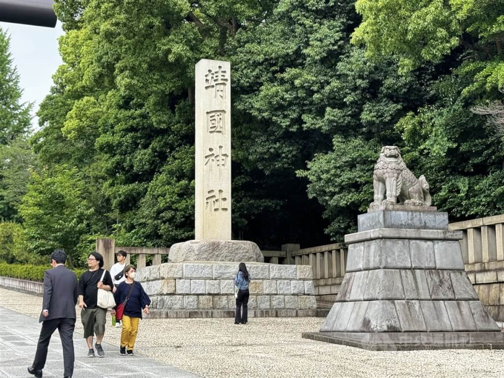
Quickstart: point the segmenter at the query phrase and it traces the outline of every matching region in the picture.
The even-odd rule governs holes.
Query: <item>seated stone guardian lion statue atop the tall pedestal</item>
[[[429,184],[424,175],[416,178],[406,168],[399,148],[385,146],[373,172],[374,202],[369,207],[400,204],[410,206],[430,206],[432,199]],[[386,199],[384,196],[386,195]]]

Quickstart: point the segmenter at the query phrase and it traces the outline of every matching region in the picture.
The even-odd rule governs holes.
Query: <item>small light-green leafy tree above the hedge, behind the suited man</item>
[[[80,257],[76,246],[89,234],[93,215],[84,191],[85,182],[76,168],[60,165],[32,173],[19,209],[31,252],[48,256],[62,248],[70,265],[76,266]]]

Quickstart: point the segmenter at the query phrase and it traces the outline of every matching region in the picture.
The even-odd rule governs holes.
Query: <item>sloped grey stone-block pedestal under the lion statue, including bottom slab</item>
[[[435,208],[434,208],[435,209]],[[318,333],[305,338],[371,350],[504,348],[464,271],[448,214],[377,210],[345,235],[346,274]]]

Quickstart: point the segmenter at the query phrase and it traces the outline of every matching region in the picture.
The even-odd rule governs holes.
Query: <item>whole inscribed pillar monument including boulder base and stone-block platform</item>
[[[169,263],[140,269],[153,318],[234,317],[233,278],[252,278],[248,317],[316,316],[311,267],[264,263],[259,246],[231,240],[231,72],[227,61],[196,65],[195,240],[173,244]]]

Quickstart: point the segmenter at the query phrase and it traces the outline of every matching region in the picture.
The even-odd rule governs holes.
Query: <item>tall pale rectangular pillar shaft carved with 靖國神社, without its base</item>
[[[195,238],[231,239],[231,65],[196,65]]]

